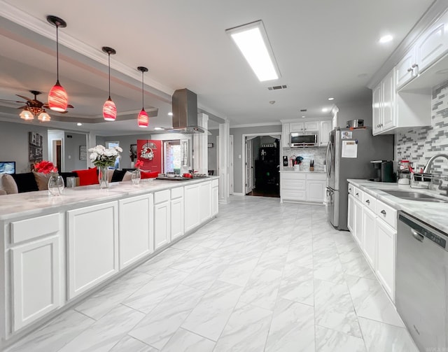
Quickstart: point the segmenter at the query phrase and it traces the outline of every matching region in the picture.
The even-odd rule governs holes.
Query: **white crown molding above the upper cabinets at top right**
[[[381,65],[379,70],[374,73],[372,78],[367,83],[367,87],[373,89],[378,83],[386,76],[393,67],[400,62],[400,59],[405,55],[412,45],[414,45],[430,25],[437,21],[448,10],[448,0],[435,0],[432,5],[426,10],[416,22],[414,27],[409,31],[407,36],[402,40],[398,47],[393,50],[392,54],[386,59],[384,64]]]

